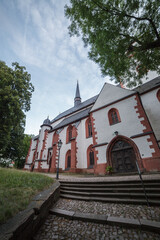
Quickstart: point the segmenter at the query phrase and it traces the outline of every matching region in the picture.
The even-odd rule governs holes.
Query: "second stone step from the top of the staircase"
[[[114,188],[108,188],[108,187],[103,187],[103,188],[92,188],[92,187],[70,187],[70,186],[61,186],[61,190],[72,190],[72,191],[81,191],[81,192],[143,192],[143,188],[119,188],[119,187],[114,187]],[[146,192],[160,192],[160,187],[158,188],[148,188],[145,187]]]

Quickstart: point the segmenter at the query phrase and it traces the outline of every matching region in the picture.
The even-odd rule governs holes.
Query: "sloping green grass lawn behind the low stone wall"
[[[24,210],[54,179],[38,173],[0,168],[0,224]]]

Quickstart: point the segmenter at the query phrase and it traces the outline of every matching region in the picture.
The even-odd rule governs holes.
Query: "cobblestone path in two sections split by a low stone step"
[[[130,218],[143,218],[154,221],[160,220],[158,207],[109,204],[99,202],[85,202],[77,200],[60,199],[55,207],[74,210],[83,213],[107,214]],[[34,240],[159,240],[160,235],[153,232],[127,229],[120,226],[69,220],[55,215],[49,215],[43,226],[39,229]]]

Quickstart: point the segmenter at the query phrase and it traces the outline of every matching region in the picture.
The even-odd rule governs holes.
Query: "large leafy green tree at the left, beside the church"
[[[31,76],[26,68],[12,63],[12,68],[0,61],[0,154],[18,158],[23,145],[25,112],[30,110]]]

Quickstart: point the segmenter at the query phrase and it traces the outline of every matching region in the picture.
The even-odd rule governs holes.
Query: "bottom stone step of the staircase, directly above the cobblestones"
[[[75,196],[72,194],[60,194],[61,198],[68,198],[82,201],[98,201],[98,202],[109,202],[109,203],[125,203],[125,204],[140,204],[146,205],[145,199],[122,199],[122,198],[104,198],[104,197],[92,197],[92,196]],[[160,206],[160,201],[149,200],[150,206]]]

